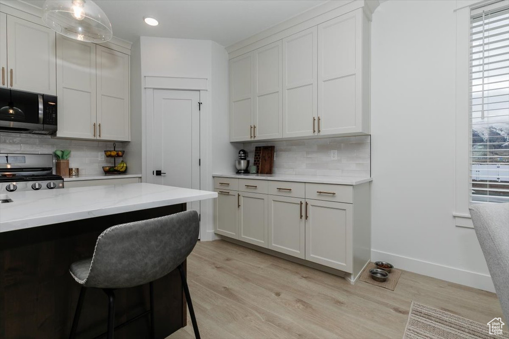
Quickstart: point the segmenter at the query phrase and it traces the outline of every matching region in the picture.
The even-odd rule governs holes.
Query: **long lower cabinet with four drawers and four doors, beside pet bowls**
[[[214,187],[219,193],[217,234],[312,267],[351,273],[352,281],[371,260],[370,182],[352,186],[215,177]],[[244,192],[254,189],[259,193]]]

